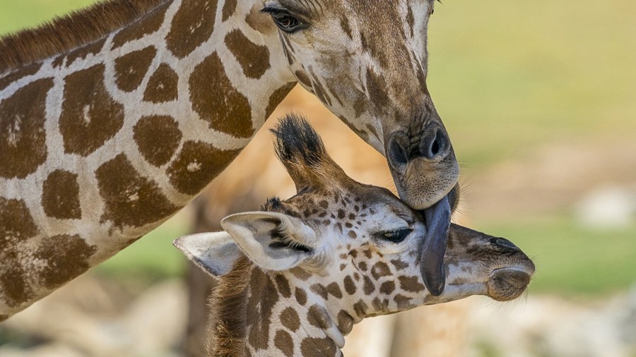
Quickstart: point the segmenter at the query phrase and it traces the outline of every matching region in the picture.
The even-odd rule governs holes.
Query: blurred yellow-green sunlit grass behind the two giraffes
[[[0,0],[0,34],[92,2]],[[429,37],[429,88],[469,171],[560,140],[636,140],[635,1],[448,0],[436,4]],[[563,212],[473,223],[535,258],[533,292],[598,296],[636,282],[634,226],[589,231]],[[170,242],[184,233],[170,222],[97,272],[180,274]]]

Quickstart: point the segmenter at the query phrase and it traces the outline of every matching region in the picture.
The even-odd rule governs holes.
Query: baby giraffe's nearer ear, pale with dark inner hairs
[[[314,255],[316,232],[295,217],[276,212],[232,214],[221,226],[256,265],[289,270]]]

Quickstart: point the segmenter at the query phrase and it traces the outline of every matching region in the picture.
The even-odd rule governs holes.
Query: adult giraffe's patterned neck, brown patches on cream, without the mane
[[[0,75],[0,320],[155,229],[249,143],[295,85],[260,6],[166,1]]]

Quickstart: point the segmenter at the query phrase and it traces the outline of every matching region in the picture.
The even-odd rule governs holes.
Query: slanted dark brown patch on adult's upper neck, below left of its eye
[[[250,41],[240,30],[228,33],[225,45],[241,65],[245,77],[259,79],[271,68],[269,49]]]

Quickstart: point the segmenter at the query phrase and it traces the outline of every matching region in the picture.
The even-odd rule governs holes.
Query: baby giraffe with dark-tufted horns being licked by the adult
[[[508,301],[528,286],[534,264],[517,246],[451,225],[440,250],[445,286],[430,294],[425,217],[346,176],[303,119],[273,132],[297,195],[226,217],[224,232],[175,241],[220,279],[210,356],[342,356],[344,336],[365,317],[470,295]]]

